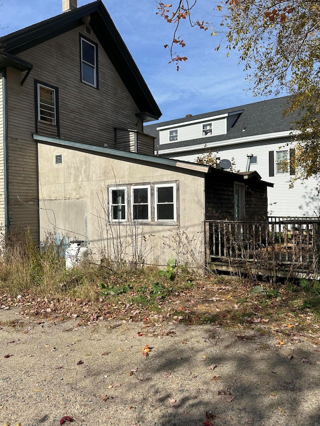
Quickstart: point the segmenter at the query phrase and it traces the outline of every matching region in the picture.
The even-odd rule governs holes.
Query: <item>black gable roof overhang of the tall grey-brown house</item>
[[[82,19],[88,15],[90,15],[90,26],[93,32],[138,106],[143,119],[145,121],[158,119],[161,111],[101,0],[93,1],[0,37],[1,51],[17,55],[83,25]],[[19,62],[19,59],[16,58],[16,61]],[[12,66],[3,56],[0,57],[0,65]]]

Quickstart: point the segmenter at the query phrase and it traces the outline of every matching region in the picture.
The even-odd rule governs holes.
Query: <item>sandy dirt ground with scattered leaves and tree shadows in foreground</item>
[[[216,325],[80,326],[2,307],[0,424],[320,425],[318,342]]]

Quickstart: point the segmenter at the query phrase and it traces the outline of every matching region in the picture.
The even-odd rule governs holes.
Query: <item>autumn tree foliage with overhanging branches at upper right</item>
[[[183,0],[158,3],[161,16],[175,23],[174,39],[186,17],[192,25],[210,27],[207,22],[192,21],[195,3],[191,7]],[[291,95],[284,113],[295,112],[295,179],[319,178],[320,1],[223,0],[216,8],[221,16],[218,24],[211,24],[211,35],[220,34],[215,49],[224,45],[227,53],[238,50],[255,95]],[[171,60],[180,61],[178,55],[171,55]]]

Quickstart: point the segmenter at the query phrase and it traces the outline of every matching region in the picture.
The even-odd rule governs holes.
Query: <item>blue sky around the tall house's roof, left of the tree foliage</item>
[[[78,0],[78,7],[89,3]],[[265,98],[253,97],[248,91],[237,52],[226,57],[226,50],[216,52],[218,37],[210,31],[184,25],[181,34],[186,42],[180,54],[188,60],[177,72],[168,64],[168,50],[173,25],[155,14],[155,0],[103,0],[113,22],[126,43],[133,59],[158,103],[162,116],[159,121],[200,114],[221,108],[256,102]],[[61,13],[62,0],[1,0],[0,35]],[[198,0],[194,19],[214,20],[214,2]]]

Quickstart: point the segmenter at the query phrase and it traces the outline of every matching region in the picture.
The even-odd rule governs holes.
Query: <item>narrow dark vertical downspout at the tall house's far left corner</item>
[[[3,108],[3,174],[4,174],[4,232],[9,231],[9,185],[8,185],[8,131],[6,108],[6,68],[2,68],[2,108]]]

